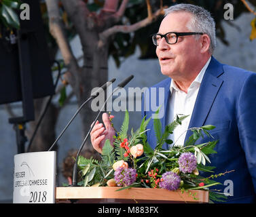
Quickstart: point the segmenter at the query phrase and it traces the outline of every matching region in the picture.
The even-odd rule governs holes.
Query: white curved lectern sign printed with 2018
[[[55,203],[56,151],[14,156],[13,203]]]

